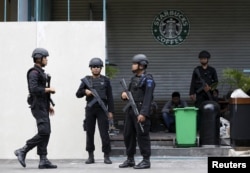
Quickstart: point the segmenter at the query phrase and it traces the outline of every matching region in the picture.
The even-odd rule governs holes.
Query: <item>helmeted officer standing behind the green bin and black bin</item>
[[[189,95],[190,99],[199,108],[204,101],[213,100],[212,91],[218,84],[216,69],[208,64],[211,55],[208,51],[203,50],[199,53],[198,58],[200,65],[195,67],[192,73]],[[199,128],[198,113],[198,128]]]

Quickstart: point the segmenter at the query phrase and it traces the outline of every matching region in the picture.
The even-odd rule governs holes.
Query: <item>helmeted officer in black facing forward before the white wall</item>
[[[111,144],[109,138],[109,119],[113,118],[114,113],[114,100],[112,94],[112,87],[110,79],[104,75],[101,75],[101,70],[103,67],[103,62],[100,58],[92,58],[89,62],[89,67],[92,72],[92,76],[85,76],[91,87],[95,89],[108,109],[108,115],[105,113],[104,109],[100,106],[98,102],[95,102],[93,105],[89,106],[93,102],[95,97],[91,92],[90,88],[87,87],[84,80],[81,79],[81,84],[76,92],[77,98],[82,98],[86,96],[87,105],[85,108],[85,120],[84,120],[84,130],[86,131],[87,144],[86,151],[88,151],[89,157],[85,161],[86,164],[94,163],[94,134],[96,120],[99,127],[99,132],[102,141],[102,152],[104,153],[104,163],[112,164],[112,161],[109,158],[111,152]]]

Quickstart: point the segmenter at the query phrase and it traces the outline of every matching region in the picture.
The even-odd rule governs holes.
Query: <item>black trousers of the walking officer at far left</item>
[[[29,150],[37,146],[38,155],[47,155],[47,146],[51,132],[49,111],[34,107],[31,112],[36,119],[38,133],[33,138],[27,140],[26,145]]]

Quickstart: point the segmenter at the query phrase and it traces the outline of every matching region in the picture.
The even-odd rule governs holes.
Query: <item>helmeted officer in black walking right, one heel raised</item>
[[[36,119],[38,133],[26,141],[26,145],[15,150],[15,155],[23,167],[26,167],[25,157],[28,151],[37,147],[37,154],[40,156],[39,169],[57,168],[47,159],[47,146],[50,138],[49,115],[54,115],[54,108],[51,105],[50,94],[55,93],[55,89],[47,86],[48,75],[43,67],[47,65],[49,53],[44,48],[36,48],[32,53],[34,67],[27,72],[28,88],[30,92],[31,112]]]

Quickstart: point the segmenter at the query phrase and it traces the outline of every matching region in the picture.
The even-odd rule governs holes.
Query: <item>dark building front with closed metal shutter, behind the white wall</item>
[[[118,69],[112,85],[120,114],[119,80],[129,80],[137,53],[149,58],[160,106],[173,91],[189,100],[201,50],[211,53],[220,96],[226,95],[223,69],[250,69],[249,7],[248,0],[2,0],[0,21],[105,21],[105,58]]]

